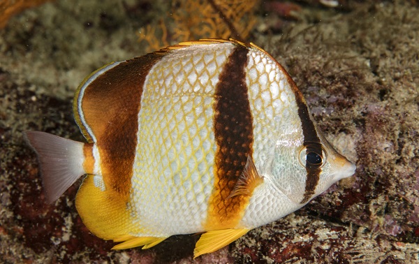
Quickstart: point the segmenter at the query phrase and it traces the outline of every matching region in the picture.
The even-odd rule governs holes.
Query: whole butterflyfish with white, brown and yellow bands
[[[112,249],[201,233],[194,258],[298,210],[356,166],[321,134],[302,92],[253,43],[203,39],[112,62],[73,101],[87,142],[41,131],[47,203],[75,206]]]

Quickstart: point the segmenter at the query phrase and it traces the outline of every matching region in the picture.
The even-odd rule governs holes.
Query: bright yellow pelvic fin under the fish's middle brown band
[[[247,228],[212,230],[201,235],[193,250],[193,258],[221,249],[249,232]]]

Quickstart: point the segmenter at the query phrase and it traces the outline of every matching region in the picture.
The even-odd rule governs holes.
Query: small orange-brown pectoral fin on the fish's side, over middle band
[[[242,175],[227,198],[232,198],[234,196],[251,196],[256,186],[261,183],[263,183],[263,177],[258,174],[255,163],[253,163],[253,159],[249,155],[247,156],[247,163]]]

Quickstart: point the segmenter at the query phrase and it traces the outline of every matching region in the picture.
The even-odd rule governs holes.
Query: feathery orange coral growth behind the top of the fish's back
[[[244,41],[256,24],[256,0],[177,0],[172,2],[170,20],[147,25],[139,41],[150,50],[169,43],[199,38],[236,38]],[[171,25],[167,27],[166,24]]]

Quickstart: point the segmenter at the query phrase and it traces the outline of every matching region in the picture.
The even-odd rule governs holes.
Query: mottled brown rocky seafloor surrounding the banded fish
[[[80,181],[47,205],[22,139],[36,130],[83,140],[73,93],[103,64],[145,53],[135,31],[151,1],[63,0],[13,17],[0,29],[0,262],[419,263],[418,2],[340,2],[294,1],[291,19],[260,11],[248,41],[284,65],[355,175],[195,260],[198,235],[111,251],[78,217]]]

